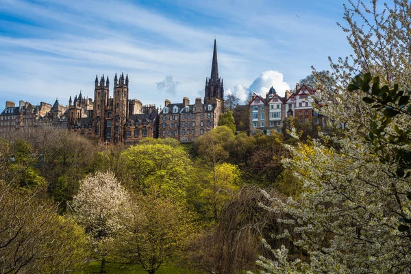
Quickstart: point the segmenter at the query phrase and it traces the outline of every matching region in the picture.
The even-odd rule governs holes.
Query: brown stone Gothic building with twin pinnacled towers
[[[142,138],[158,136],[158,109],[129,100],[129,79],[114,76],[113,97],[110,81],[96,75],[94,101],[79,97],[69,100],[69,130],[113,144],[134,144]]]

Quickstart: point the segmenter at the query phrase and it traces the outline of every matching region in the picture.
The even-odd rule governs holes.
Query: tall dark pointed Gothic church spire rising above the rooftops
[[[212,55],[210,79],[206,78],[206,88],[204,94],[204,104],[216,103],[216,99],[224,105],[224,86],[223,79],[219,77],[219,64],[217,62],[217,45],[214,39],[214,52]]]

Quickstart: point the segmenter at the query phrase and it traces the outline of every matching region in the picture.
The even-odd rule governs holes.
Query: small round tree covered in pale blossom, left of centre
[[[69,203],[79,224],[84,225],[94,239],[102,257],[101,273],[104,272],[110,240],[123,229],[122,218],[129,216],[129,200],[129,193],[113,173],[97,171],[82,180],[79,192]]]

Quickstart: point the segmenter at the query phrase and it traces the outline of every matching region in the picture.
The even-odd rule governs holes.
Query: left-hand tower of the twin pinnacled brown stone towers
[[[105,140],[105,108],[108,105],[109,97],[109,84],[108,77],[105,82],[104,75],[101,76],[100,82],[96,75],[95,80],[95,101],[93,105],[93,119],[95,121],[95,135],[99,140]]]

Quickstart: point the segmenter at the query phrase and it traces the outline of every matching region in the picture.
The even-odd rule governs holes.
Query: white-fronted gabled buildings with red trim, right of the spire
[[[325,125],[325,117],[314,112],[312,108],[317,91],[306,84],[301,87],[297,84],[295,90],[295,93],[286,90],[286,96],[279,97],[275,89],[271,87],[265,98],[253,95],[249,103],[251,136],[258,132],[282,133],[284,121],[290,116],[299,123],[312,123],[314,126]]]

